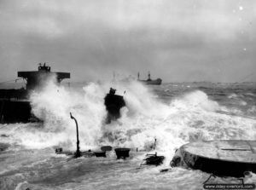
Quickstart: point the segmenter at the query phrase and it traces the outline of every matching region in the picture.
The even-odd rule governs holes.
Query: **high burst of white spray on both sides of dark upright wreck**
[[[51,138],[56,135],[62,145],[67,145],[65,142],[71,141],[75,136],[74,126],[69,118],[69,112],[73,112],[73,115],[79,120],[81,147],[96,147],[101,142],[99,140],[102,137],[104,139],[108,134],[108,130],[120,135],[120,131],[125,126],[121,126],[122,123],[119,122],[117,130],[114,130],[116,123],[104,124],[107,113],[103,99],[110,85],[118,89],[117,93],[126,91],[127,107],[121,110],[124,121],[125,118],[132,120],[134,115],[164,117],[164,112],[158,112],[158,110],[163,111],[164,107],[167,109],[167,106],[156,101],[155,95],[151,94],[140,83],[130,83],[125,86],[119,83],[89,83],[84,86],[84,93],[79,93],[79,90],[70,91],[70,89],[57,86],[53,81],[49,81],[48,85],[42,90],[32,93],[32,112],[38,118],[44,120],[45,132],[50,133]],[[136,124],[136,126],[138,129],[140,128],[140,124]],[[108,136],[104,141],[119,144],[116,143],[120,140],[118,135],[113,137],[113,141],[108,141],[109,139],[111,139],[111,136]],[[45,141],[52,140],[46,138]],[[125,141],[125,138],[123,138],[123,141]],[[73,146],[74,144],[73,141]]]

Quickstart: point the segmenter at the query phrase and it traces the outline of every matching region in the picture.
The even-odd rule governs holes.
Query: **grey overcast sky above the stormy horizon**
[[[256,72],[255,0],[0,0],[0,24],[0,81],[39,62],[73,81],[151,71],[164,82],[237,82]]]

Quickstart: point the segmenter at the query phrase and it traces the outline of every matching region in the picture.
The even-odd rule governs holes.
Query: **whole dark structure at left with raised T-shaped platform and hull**
[[[51,72],[50,66],[39,64],[38,71],[18,72],[18,78],[26,81],[26,88],[0,89],[0,123],[27,123],[34,118],[29,101],[29,93],[44,85],[48,78],[56,78],[57,83],[70,78],[69,72]]]

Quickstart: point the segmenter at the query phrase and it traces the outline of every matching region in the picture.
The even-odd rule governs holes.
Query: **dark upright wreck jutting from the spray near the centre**
[[[108,112],[106,123],[110,124],[112,120],[120,118],[120,109],[125,107],[125,100],[122,95],[115,95],[116,89],[110,88],[105,96],[105,107]]]

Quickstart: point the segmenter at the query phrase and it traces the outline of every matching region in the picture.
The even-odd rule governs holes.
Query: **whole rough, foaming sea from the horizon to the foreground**
[[[124,95],[121,118],[105,124],[104,96]],[[256,83],[48,83],[30,95],[32,112],[44,122],[0,124],[0,189],[203,189],[201,170],[171,168],[178,147],[193,141],[256,140]],[[56,147],[129,147],[130,157],[68,159]],[[165,156],[160,166],[139,168],[145,154]],[[138,150],[138,152],[137,152]],[[160,172],[163,169],[170,169]],[[211,183],[241,183],[212,177]],[[255,183],[256,174],[245,177]]]

